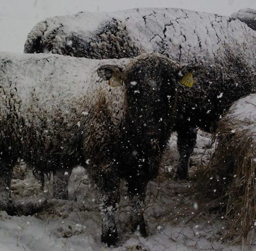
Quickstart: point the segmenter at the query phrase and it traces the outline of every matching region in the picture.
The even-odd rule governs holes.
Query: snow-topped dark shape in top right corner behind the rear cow
[[[231,17],[246,23],[251,29],[256,31],[256,10],[255,9],[250,9],[250,8],[240,9],[238,12],[232,13]]]

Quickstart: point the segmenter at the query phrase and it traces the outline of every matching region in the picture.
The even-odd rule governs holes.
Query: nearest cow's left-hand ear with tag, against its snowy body
[[[97,69],[99,77],[108,80],[110,86],[116,87],[122,85],[123,68],[121,66],[105,65]]]

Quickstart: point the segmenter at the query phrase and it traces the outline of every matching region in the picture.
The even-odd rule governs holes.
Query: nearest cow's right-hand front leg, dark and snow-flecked
[[[146,197],[147,181],[143,178],[131,178],[128,182],[128,196],[130,200],[131,228],[132,231],[139,231],[141,236],[147,236],[146,224],[143,216],[144,200]]]

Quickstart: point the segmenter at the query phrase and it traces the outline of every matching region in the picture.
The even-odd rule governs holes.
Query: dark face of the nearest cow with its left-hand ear
[[[148,143],[165,141],[175,112],[177,64],[154,53],[126,67],[101,66],[98,73],[111,85],[126,86],[128,112],[142,138]]]

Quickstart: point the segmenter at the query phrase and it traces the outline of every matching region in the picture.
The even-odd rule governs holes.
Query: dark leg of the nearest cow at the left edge
[[[0,210],[18,215],[11,200],[11,180],[15,162],[0,162]]]

